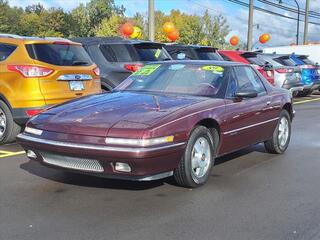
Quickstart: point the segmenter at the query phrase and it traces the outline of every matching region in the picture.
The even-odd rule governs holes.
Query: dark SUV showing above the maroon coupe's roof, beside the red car
[[[174,60],[218,60],[223,58],[216,48],[200,45],[166,44],[165,49]]]

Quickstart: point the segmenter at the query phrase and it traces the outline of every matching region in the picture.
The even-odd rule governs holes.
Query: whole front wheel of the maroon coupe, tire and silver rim
[[[180,186],[195,188],[207,182],[214,165],[218,141],[214,137],[217,131],[213,129],[212,133],[204,126],[192,131],[184,156],[174,171],[174,178]]]

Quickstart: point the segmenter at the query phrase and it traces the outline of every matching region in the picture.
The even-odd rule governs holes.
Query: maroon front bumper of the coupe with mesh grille
[[[155,147],[114,147],[78,144],[20,134],[17,142],[35,155],[29,158],[53,168],[106,178],[148,181],[171,176],[184,153],[185,142]],[[131,172],[115,170],[128,164]]]

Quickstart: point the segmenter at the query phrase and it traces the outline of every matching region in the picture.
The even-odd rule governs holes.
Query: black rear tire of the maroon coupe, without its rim
[[[288,123],[288,137],[285,144],[281,143],[281,141],[279,140],[279,134],[281,134],[281,131],[279,130],[279,126],[282,119],[286,119]],[[287,150],[290,143],[290,139],[291,139],[291,118],[288,111],[282,110],[279,116],[277,126],[273,132],[272,139],[265,141],[264,146],[267,152],[269,153],[282,154]]]

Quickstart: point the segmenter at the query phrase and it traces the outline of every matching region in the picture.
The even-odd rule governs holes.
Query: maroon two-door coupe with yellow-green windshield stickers
[[[174,176],[203,185],[218,156],[289,144],[289,91],[249,65],[167,61],[144,66],[111,93],[55,106],[18,136],[27,156],[59,169],[139,181]]]

